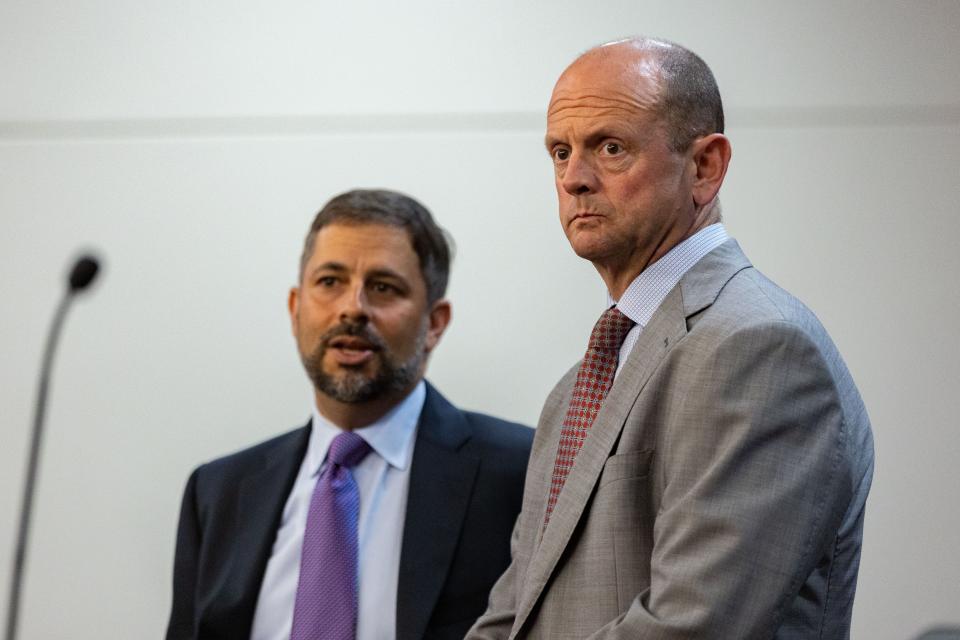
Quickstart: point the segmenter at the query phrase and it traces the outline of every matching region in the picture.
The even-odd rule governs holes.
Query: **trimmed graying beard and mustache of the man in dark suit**
[[[303,368],[313,381],[313,386],[324,395],[348,404],[376,400],[412,387],[420,376],[421,366],[426,358],[423,351],[426,327],[417,337],[414,353],[406,362],[397,362],[379,336],[371,335],[365,327],[355,327],[356,325],[347,328],[335,327],[324,334],[313,352],[301,354]],[[380,366],[377,367],[377,372],[372,378],[368,378],[359,370],[341,369],[337,375],[331,375],[323,370],[323,356],[327,352],[327,344],[333,337],[345,334],[362,335],[379,348],[374,357],[379,361]]]

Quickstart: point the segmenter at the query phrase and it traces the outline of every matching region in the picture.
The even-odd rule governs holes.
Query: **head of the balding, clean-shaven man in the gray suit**
[[[713,74],[669,42],[591,49],[553,89],[544,143],[560,223],[617,299],[636,276],[719,217],[730,162]]]

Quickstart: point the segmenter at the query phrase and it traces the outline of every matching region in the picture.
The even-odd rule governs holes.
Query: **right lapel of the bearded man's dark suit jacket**
[[[410,466],[397,585],[397,638],[422,638],[453,560],[479,459],[460,448],[471,428],[427,384]]]

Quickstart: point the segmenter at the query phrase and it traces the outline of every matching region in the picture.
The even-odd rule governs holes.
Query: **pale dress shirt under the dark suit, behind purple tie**
[[[397,579],[410,461],[426,398],[423,381],[400,404],[354,433],[373,449],[352,469],[360,490],[357,640],[396,637]],[[289,640],[310,498],[341,430],[314,407],[310,441],[273,543],[253,616],[251,640]]]

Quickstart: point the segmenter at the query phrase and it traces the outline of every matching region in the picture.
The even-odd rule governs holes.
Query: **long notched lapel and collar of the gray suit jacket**
[[[590,434],[583,448],[577,454],[576,462],[567,476],[550,516],[550,524],[543,532],[543,539],[530,560],[517,607],[514,632],[523,627],[566,549],[590,496],[593,495],[603,465],[620,436],[630,409],[636,403],[653,372],[670,350],[686,335],[687,318],[712,304],[730,278],[749,266],[749,261],[740,251],[737,243],[732,240],[725,242],[707,254],[684,275],[641,331],[633,351],[624,363],[623,369],[614,381],[610,393],[590,428]],[[562,403],[569,402],[572,386],[571,378],[566,386]],[[562,422],[565,411],[566,406],[563,406],[560,412],[553,412],[560,416],[559,419],[555,419],[554,425]],[[541,423],[541,426],[543,424]],[[552,438],[552,454],[556,452],[560,437],[559,426],[555,426],[554,429],[556,433]],[[549,462],[550,469],[546,471],[548,474],[552,473],[552,457]],[[539,472],[543,473],[546,466],[544,464]],[[544,486],[550,486],[549,475],[546,476]],[[543,500],[542,504],[545,508],[546,501]],[[540,518],[536,523],[538,526],[543,522],[542,510],[539,515]]]

